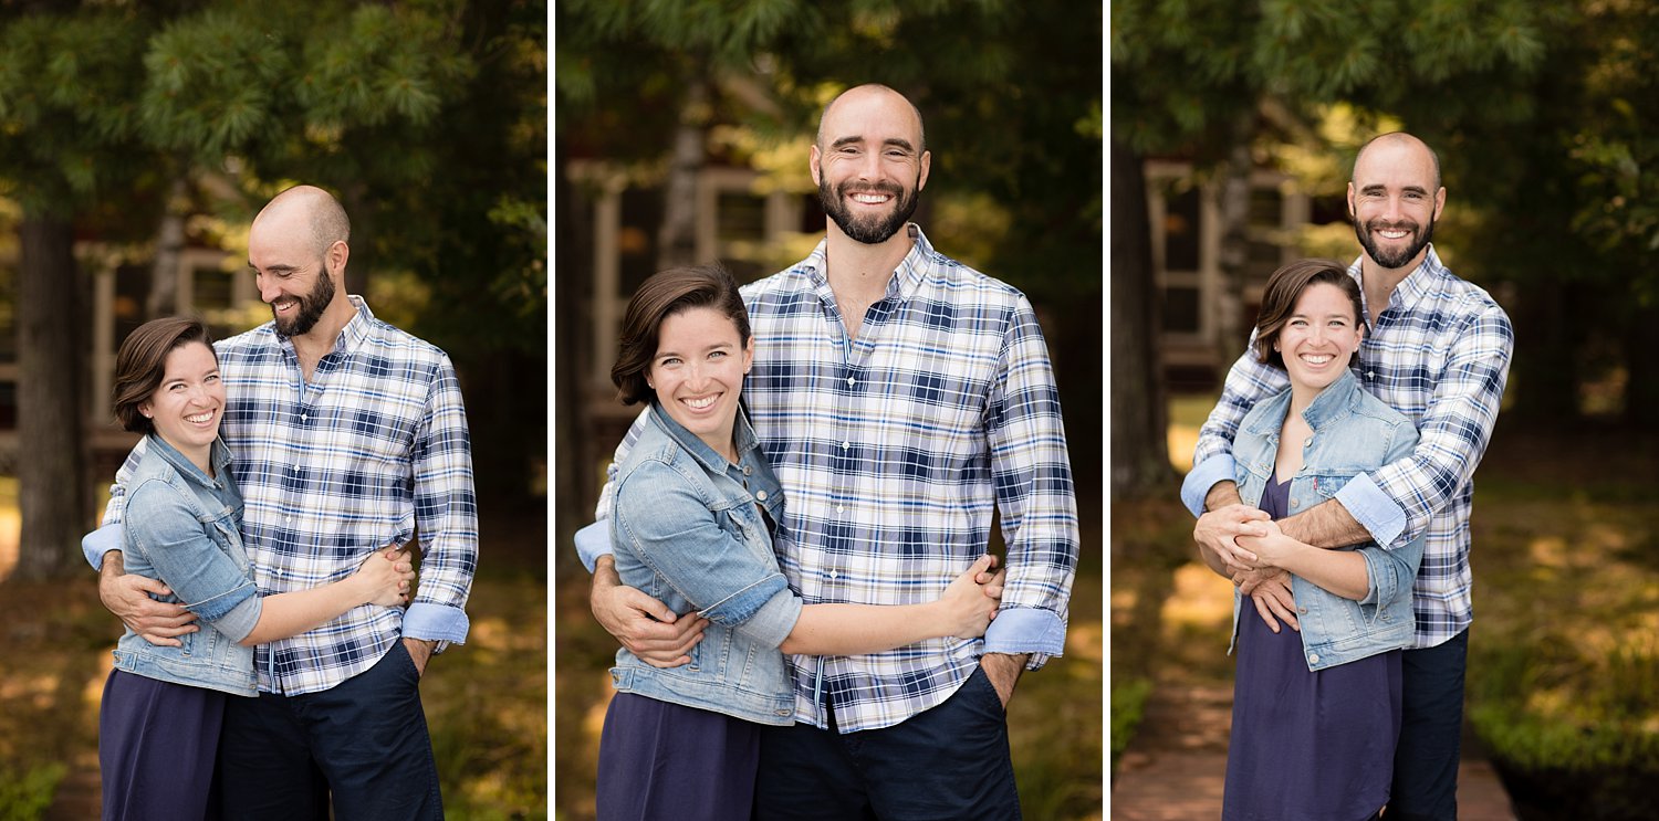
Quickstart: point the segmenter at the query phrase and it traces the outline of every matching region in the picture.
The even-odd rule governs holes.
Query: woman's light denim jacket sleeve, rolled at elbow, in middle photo
[[[637,561],[710,622],[742,625],[780,590],[788,592],[776,559],[760,556],[740,536],[722,529],[715,517],[723,513],[710,511],[670,464],[645,461],[634,468],[617,488],[614,516],[612,542],[622,581],[630,581],[624,562]]]

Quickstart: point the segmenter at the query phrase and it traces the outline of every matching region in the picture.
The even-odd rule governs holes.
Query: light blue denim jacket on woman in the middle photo
[[[652,405],[619,468],[611,539],[622,584],[675,614],[697,610],[708,627],[690,663],[662,670],[622,649],[611,678],[624,693],[791,725],[795,692],[778,645],[801,599],[778,569],[770,532],[783,491],[743,413],[733,433],[738,464]]]

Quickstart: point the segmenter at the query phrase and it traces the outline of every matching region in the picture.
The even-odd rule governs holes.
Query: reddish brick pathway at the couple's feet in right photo
[[[1221,818],[1233,687],[1160,685],[1112,781],[1113,821]],[[1460,821],[1515,821],[1491,765],[1463,760]]]

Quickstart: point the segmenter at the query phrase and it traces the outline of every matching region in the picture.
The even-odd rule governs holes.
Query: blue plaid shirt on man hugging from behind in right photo
[[[1349,275],[1360,279],[1360,260],[1349,265]],[[1473,620],[1468,517],[1475,468],[1498,420],[1515,330],[1485,290],[1440,264],[1433,245],[1369,330],[1359,348],[1360,383],[1410,418],[1420,440],[1410,458],[1355,476],[1335,498],[1377,544],[1397,547],[1427,531],[1412,602],[1415,645],[1435,647]],[[1286,373],[1256,362],[1254,352],[1233,365],[1181,484],[1181,501],[1194,516],[1211,486],[1234,478],[1239,421],[1286,385]]]

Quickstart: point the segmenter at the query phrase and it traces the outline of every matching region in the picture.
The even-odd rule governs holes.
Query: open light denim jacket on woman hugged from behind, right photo
[[[1279,453],[1279,430],[1291,406],[1291,390],[1259,401],[1244,416],[1233,440],[1239,496],[1259,506]],[[1302,411],[1314,430],[1302,453],[1302,469],[1291,479],[1289,513],[1296,514],[1335,496],[1349,479],[1405,458],[1417,446],[1417,428],[1404,415],[1360,388],[1354,372],[1344,372]],[[1282,478],[1281,478],[1282,479]],[[1302,657],[1309,670],[1354,662],[1394,649],[1412,647],[1415,615],[1412,582],[1423,557],[1423,537],[1395,549],[1367,542],[1367,589],[1360,600],[1344,599],[1307,579],[1291,576],[1296,615],[1302,625]],[[1233,592],[1233,637],[1243,597]],[[1229,650],[1231,652],[1231,650]]]

